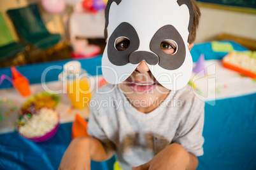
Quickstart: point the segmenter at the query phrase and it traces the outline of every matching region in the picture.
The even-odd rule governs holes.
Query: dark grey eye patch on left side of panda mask
[[[118,37],[127,37],[130,40],[129,47],[124,51],[118,51],[115,48],[115,41]],[[127,22],[120,23],[108,40],[108,59],[114,65],[125,65],[129,63],[129,55],[138,48],[139,37],[134,27]]]

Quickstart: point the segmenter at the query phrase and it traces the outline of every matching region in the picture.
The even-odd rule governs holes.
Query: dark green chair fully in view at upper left
[[[61,39],[60,34],[48,32],[41,20],[37,4],[8,10],[7,14],[10,16],[20,39],[29,42],[36,48],[50,48]]]

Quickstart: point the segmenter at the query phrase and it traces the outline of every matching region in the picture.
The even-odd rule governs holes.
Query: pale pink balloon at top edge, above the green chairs
[[[64,0],[42,0],[42,5],[48,13],[61,13],[66,8]]]

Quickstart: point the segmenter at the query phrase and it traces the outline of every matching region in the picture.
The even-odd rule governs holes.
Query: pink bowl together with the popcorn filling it
[[[23,112],[17,120],[18,133],[31,141],[41,142],[52,138],[59,129],[59,113],[48,107],[34,112]]]

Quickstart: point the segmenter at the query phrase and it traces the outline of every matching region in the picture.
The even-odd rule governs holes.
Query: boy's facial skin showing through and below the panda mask
[[[125,39],[116,44],[116,48],[127,48]],[[194,44],[190,44],[190,50]],[[166,41],[161,44],[164,53],[172,54],[176,51],[176,44]],[[169,94],[169,89],[164,88],[155,77],[153,77],[145,61],[139,63],[132,74],[120,84],[118,88],[122,90],[131,104],[141,112],[150,112],[159,106],[162,100]]]

